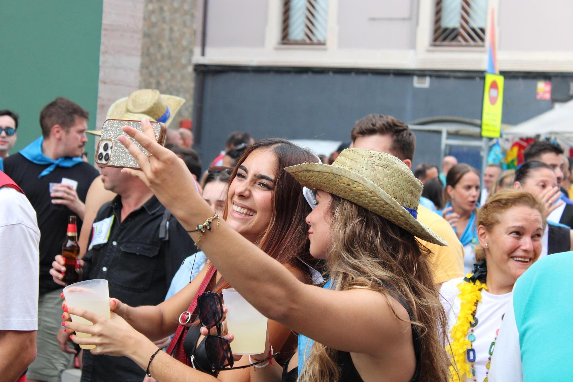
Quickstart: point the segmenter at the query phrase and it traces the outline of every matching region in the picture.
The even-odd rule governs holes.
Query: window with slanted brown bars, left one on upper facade
[[[324,45],[328,0],[284,0],[282,44]]]

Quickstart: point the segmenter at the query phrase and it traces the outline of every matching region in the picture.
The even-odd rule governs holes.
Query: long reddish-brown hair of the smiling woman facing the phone
[[[309,254],[310,241],[307,236],[307,215],[311,208],[303,196],[303,186],[284,170],[285,167],[299,165],[300,163],[317,163],[318,158],[311,151],[303,149],[286,139],[262,139],[245,149],[241,158],[234,167],[229,179],[229,186],[237,176],[238,167],[255,150],[272,150],[277,157],[277,173],[274,178],[275,187],[272,196],[272,213],[269,224],[256,240],[258,247],[273,259],[285,266],[292,266],[307,275],[310,281],[309,270],[299,256],[306,263],[315,261]],[[229,211],[229,198],[225,202],[223,218],[226,219]],[[214,291],[220,292],[229,288],[230,284],[221,278]]]

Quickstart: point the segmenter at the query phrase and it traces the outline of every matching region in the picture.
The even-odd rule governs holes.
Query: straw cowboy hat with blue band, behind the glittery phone
[[[105,119],[155,120],[169,126],[185,99],[161,94],[156,89],[140,89],[128,97],[120,98],[109,107]],[[86,131],[101,135],[101,130]]]

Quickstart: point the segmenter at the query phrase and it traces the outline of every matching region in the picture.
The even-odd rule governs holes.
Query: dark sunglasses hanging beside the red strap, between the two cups
[[[197,301],[199,307],[199,322],[205,326],[207,330],[213,327],[217,328],[217,335],[209,334],[205,338],[205,352],[211,370],[234,370],[250,368],[253,365],[261,364],[270,360],[270,358],[278,356],[278,352],[266,357],[264,360],[257,361],[254,364],[233,367],[233,352],[227,338],[221,334],[221,321],[223,320],[223,299],[218,293],[203,293],[199,296]]]

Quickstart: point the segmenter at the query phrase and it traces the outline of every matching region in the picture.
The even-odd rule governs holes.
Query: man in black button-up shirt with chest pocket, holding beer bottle
[[[109,297],[128,305],[157,305],[163,302],[187,252],[194,248],[193,241],[138,178],[114,167],[102,167],[101,176],[104,188],[117,197],[97,212],[83,258],[84,279],[107,279]],[[55,268],[57,263],[59,268]],[[50,271],[58,283],[60,271],[65,270],[61,264],[63,260],[57,256]],[[69,336],[62,333],[63,338]],[[83,382],[140,382],[145,376],[127,357],[83,353]]]

